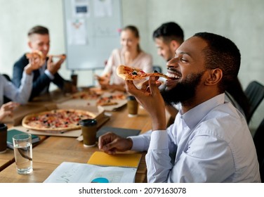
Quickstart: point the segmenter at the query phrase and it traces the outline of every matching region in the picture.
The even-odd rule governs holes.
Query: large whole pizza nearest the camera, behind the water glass
[[[86,110],[56,109],[26,115],[22,126],[39,131],[68,131],[80,129],[80,120],[95,118],[95,114]]]

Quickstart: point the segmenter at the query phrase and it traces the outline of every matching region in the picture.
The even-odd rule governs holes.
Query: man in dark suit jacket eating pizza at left
[[[50,48],[50,38],[46,27],[32,27],[27,35],[29,48],[32,51],[41,51],[44,58],[44,64],[41,68],[34,70],[32,93],[29,97],[29,101],[31,101],[35,96],[47,93],[51,82],[56,84],[60,89],[63,88],[65,80],[58,74],[58,70],[65,58],[62,57],[58,61],[53,62],[53,57],[47,56]],[[16,87],[20,87],[22,72],[28,64],[29,60],[25,54],[15,63],[13,67],[13,84]]]

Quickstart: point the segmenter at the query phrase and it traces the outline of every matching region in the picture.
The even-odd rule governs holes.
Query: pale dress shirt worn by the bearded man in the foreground
[[[131,137],[147,151],[148,182],[260,182],[256,148],[244,116],[220,94],[166,131]]]

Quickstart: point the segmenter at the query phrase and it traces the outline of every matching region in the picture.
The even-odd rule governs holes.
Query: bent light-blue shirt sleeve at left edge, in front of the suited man
[[[27,103],[32,91],[33,74],[27,75],[23,72],[21,85],[16,88],[12,82],[6,80],[6,77],[0,75],[0,106],[4,103],[4,96],[18,103]]]

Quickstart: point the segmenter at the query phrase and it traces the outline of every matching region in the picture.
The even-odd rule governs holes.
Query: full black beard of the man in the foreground
[[[201,82],[203,72],[197,74],[188,75],[186,80],[178,82],[176,87],[166,90],[166,85],[161,89],[161,95],[164,98],[165,103],[169,105],[177,103],[192,102],[195,96],[197,86]]]

